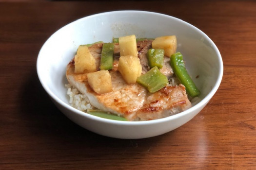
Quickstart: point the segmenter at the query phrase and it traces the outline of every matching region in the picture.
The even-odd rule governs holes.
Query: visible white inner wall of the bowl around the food
[[[148,22],[150,18],[151,22]],[[152,24],[154,23],[154,24]],[[177,51],[183,54],[186,67],[201,91],[196,105],[210,100],[222,77],[222,60],[215,44],[196,27],[175,17],[145,11],[116,11],[76,20],[53,34],[39,52],[37,70],[47,93],[60,104],[69,106],[66,95],[66,65],[81,44],[112,42],[113,37],[135,34],[155,38],[177,36]]]

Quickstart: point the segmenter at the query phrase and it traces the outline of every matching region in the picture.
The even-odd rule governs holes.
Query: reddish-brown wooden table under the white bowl
[[[255,1],[12,1],[0,2],[0,170],[256,170]],[[87,131],[56,108],[37,77],[37,55],[51,34],[80,17],[124,9],[185,20],[223,58],[212,100],[161,136],[124,140]]]

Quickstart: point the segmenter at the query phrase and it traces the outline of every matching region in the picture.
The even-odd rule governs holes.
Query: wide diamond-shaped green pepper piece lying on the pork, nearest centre
[[[151,68],[145,74],[137,78],[137,83],[144,86],[150,93],[154,93],[168,84],[167,77],[162,74],[158,67]]]

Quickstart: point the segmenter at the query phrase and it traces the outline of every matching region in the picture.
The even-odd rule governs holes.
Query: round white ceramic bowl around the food
[[[150,22],[149,22],[150,20]],[[66,65],[80,44],[111,42],[113,37],[135,34],[155,38],[177,36],[186,67],[201,91],[193,107],[179,114],[150,121],[118,121],[81,112],[69,104],[66,95]],[[78,19],[54,33],[44,43],[37,60],[39,80],[52,101],[69,119],[103,136],[135,139],[170,132],[190,119],[213,97],[223,74],[221,55],[214,42],[193,25],[178,18],[146,11],[114,11]]]

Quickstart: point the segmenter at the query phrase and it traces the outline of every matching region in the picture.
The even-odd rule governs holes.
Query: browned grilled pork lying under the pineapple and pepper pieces
[[[150,44],[150,42],[149,42]],[[145,45],[145,43],[144,43]],[[140,61],[150,45],[139,45]],[[102,44],[89,47],[90,52],[96,59],[96,66],[99,67]],[[191,107],[186,90],[183,85],[166,86],[155,93],[149,93],[144,87],[138,84],[128,85],[117,71],[118,66],[118,44],[115,45],[114,68],[109,70],[112,80],[113,91],[98,95],[87,82],[87,74],[74,73],[74,60],[67,65],[66,77],[70,84],[74,85],[83,94],[86,94],[90,103],[103,111],[111,112],[125,117],[130,121],[160,119],[177,114]],[[165,59],[168,62],[168,59]],[[147,62],[146,60],[144,62]],[[169,63],[168,63],[169,64]],[[167,76],[173,74],[172,69],[163,67],[163,73]],[[146,68],[146,64],[145,64]],[[168,72],[170,71],[170,72]],[[143,71],[142,71],[143,72]]]

